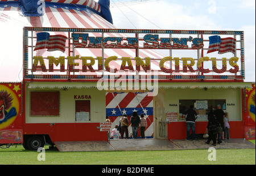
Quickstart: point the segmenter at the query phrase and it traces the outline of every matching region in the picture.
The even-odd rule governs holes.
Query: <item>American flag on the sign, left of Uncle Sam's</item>
[[[47,51],[65,51],[67,37],[63,35],[49,35],[48,32],[36,33],[35,50],[47,49]]]

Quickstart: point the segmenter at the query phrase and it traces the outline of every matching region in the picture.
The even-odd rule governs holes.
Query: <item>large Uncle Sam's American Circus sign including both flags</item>
[[[243,42],[241,31],[25,27],[24,79],[100,79],[119,72],[134,78],[157,72],[157,79],[242,80]],[[143,50],[163,54],[150,57]]]

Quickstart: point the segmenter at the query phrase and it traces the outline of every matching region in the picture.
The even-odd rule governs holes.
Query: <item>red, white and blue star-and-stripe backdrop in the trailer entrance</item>
[[[152,138],[154,135],[153,128],[153,97],[148,93],[106,93],[106,116],[112,122],[112,128],[119,124],[119,119],[123,113],[126,113],[129,119],[129,134],[132,132],[130,118],[134,111],[138,115],[144,114],[147,120],[147,128],[145,131],[146,138]],[[138,131],[138,136],[141,134]]]

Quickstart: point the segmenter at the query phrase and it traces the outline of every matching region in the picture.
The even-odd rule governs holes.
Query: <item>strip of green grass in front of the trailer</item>
[[[0,148],[0,165],[255,165],[255,149],[216,149],[216,161],[209,161],[208,149],[59,152],[47,148],[46,161],[38,161],[40,152],[26,151],[22,145]]]

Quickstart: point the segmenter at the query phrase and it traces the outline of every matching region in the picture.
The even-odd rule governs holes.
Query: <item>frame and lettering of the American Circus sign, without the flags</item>
[[[68,36],[66,41],[65,53],[67,57],[52,58],[34,56],[35,35],[40,32],[48,32],[49,35],[65,34]],[[95,33],[97,36],[94,37]],[[106,35],[131,35],[131,37],[104,37]],[[126,79],[135,79],[135,76],[143,77],[141,72],[158,71],[160,74],[152,77],[159,80],[243,80],[245,79],[245,52],[243,31],[196,31],[196,30],[148,30],[148,29],[90,29],[90,28],[43,28],[43,27],[24,27],[23,29],[23,75],[24,79],[79,79],[91,80],[101,79],[110,75],[106,72],[115,73],[109,67],[111,61],[122,62],[122,71],[133,71],[134,74],[126,76]],[[219,36],[221,39],[228,37],[234,39],[234,55],[226,58],[225,54],[221,58],[204,55],[204,50],[209,49],[209,37]],[[139,45],[141,44],[142,45]],[[240,45],[237,44],[240,42]],[[208,47],[207,47],[208,46]],[[238,48],[238,46],[241,46]],[[76,49],[101,49],[101,57],[92,58],[90,55],[75,55]],[[111,56],[104,57],[106,49],[133,49],[136,55],[134,58],[123,56],[118,58]],[[139,58],[140,50],[170,50],[170,54],[164,58]],[[197,58],[182,57],[173,55],[174,50],[195,50]],[[48,51],[47,51],[48,52]],[[52,53],[52,52],[51,52]],[[237,55],[240,54],[240,57]],[[44,61],[53,61],[60,69],[47,68]],[[63,60],[61,60],[63,59]],[[75,60],[82,60],[83,64],[77,67]],[[89,63],[90,61],[90,63]],[[131,61],[136,62],[136,66],[131,65]],[[159,69],[152,70],[151,62],[160,61]],[[239,62],[240,61],[240,62]],[[98,63],[98,65],[96,64]],[[196,63],[197,62],[197,63]],[[204,68],[204,63],[212,63],[212,68]],[[222,62],[222,68],[217,68],[217,62]],[[166,63],[170,63],[167,67]],[[51,63],[49,63],[50,65]],[[172,65],[175,64],[175,68]],[[52,63],[53,65],[53,63]],[[97,65],[97,69],[92,66]],[[128,66],[127,66],[128,65]],[[193,67],[192,67],[193,66]],[[229,68],[227,68],[229,66]],[[44,70],[45,69],[45,70]],[[37,74],[37,72],[40,74]],[[46,73],[45,73],[46,72]],[[88,74],[90,72],[90,74]],[[93,74],[101,72],[101,75]],[[183,74],[188,73],[188,74]],[[209,74],[210,73],[210,74]],[[152,74],[152,73],[151,73]],[[120,75],[118,75],[120,76]]]

